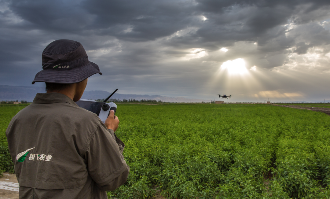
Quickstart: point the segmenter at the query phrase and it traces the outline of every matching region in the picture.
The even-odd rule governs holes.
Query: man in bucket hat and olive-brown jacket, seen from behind
[[[102,73],[72,40],[50,43],[42,65],[32,84],[45,82],[47,93],[37,93],[6,130],[19,198],[107,198],[129,173],[118,117],[110,111],[103,123],[75,103],[87,78]]]

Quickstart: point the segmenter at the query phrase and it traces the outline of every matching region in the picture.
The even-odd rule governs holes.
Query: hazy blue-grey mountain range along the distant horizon
[[[12,101],[12,100],[25,100],[32,102],[37,93],[45,93],[45,87],[38,86],[9,86],[9,85],[0,85],[0,101]],[[111,93],[103,90],[92,90],[85,91],[81,99],[103,99],[107,98]],[[152,99],[152,100],[161,100],[162,102],[210,102],[210,100],[201,100],[201,99],[188,99],[184,97],[166,97],[160,95],[135,95],[135,94],[119,94],[115,93],[111,99]]]

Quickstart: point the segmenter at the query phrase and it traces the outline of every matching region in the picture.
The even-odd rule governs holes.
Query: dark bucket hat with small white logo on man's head
[[[78,83],[99,73],[98,65],[88,61],[85,49],[79,42],[60,39],[51,42],[42,53],[42,71],[35,82]]]

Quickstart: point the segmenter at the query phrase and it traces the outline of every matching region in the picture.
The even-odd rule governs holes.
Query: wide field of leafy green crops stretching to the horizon
[[[1,106],[5,130],[23,106]],[[329,198],[330,119],[260,104],[123,104],[117,136],[130,166],[110,198]]]

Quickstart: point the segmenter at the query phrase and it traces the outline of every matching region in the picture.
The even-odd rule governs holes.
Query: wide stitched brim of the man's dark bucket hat
[[[90,61],[87,65],[72,70],[42,70],[34,77],[32,84],[35,82],[78,83],[96,73],[102,75],[98,65]]]

